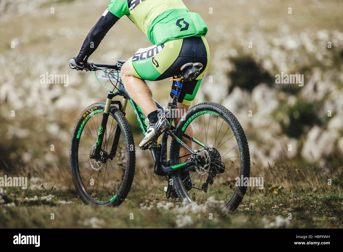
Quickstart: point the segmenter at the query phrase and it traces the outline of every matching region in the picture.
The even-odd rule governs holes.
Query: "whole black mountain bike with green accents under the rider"
[[[135,144],[126,119],[128,103],[143,133],[147,126],[142,110],[121,82],[120,69],[124,62],[118,60],[113,65],[89,63],[89,70],[102,71],[100,73],[108,76],[105,79],[110,80],[114,88],[107,87],[111,91],[105,102],[94,103],[81,113],[72,133],[71,175],[85,204],[118,206],[127,197],[133,182]],[[195,79],[201,67],[200,63],[189,63],[174,76],[178,77],[177,87],[168,109],[155,102],[170,120],[170,125],[177,113],[182,85]],[[117,97],[122,100],[114,99]],[[189,154],[180,156],[181,148]],[[249,147],[238,120],[222,105],[204,102],[193,106],[176,127],[171,126],[159,137],[157,144],[149,146],[149,150],[155,164],[154,174],[167,181],[167,198],[201,204],[213,197],[230,211],[242,201],[247,187],[243,183],[236,186],[235,182],[238,177],[249,177]]]

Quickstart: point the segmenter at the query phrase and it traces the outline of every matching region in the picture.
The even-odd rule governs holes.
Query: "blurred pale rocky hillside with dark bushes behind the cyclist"
[[[193,104],[214,101],[236,115],[247,135],[251,170],[274,164],[301,169],[314,162],[324,171],[341,170],[343,2],[184,2],[209,27],[211,63]],[[86,106],[105,100],[107,90],[94,73],[76,72],[68,62],[107,4],[108,0],[0,0],[3,172],[50,176],[71,184],[74,123]],[[144,34],[123,17],[90,61],[115,63],[148,46]],[[69,83],[42,84],[46,73],[67,74]],[[303,86],[275,83],[275,75],[281,73],[303,74]],[[149,85],[154,98],[166,105],[170,82]],[[128,119],[138,145],[142,134],[130,108]],[[151,154],[139,148],[136,152],[138,170],[152,172]]]

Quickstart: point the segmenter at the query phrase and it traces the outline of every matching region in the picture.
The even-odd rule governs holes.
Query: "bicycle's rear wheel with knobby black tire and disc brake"
[[[172,173],[180,200],[202,204],[213,197],[214,200],[224,201],[230,211],[234,211],[247,190],[243,185],[236,187],[235,179],[242,175],[249,177],[250,174],[248,142],[236,117],[219,104],[201,103],[187,111],[174,134],[191,149],[202,149],[200,154],[210,160],[208,166],[198,166],[197,171],[189,174],[181,170]],[[197,143],[190,142],[184,134],[193,135]],[[184,162],[180,160],[179,153],[180,144],[173,139],[171,165]],[[185,156],[184,159],[189,158],[190,153]],[[191,183],[187,182],[189,178]]]

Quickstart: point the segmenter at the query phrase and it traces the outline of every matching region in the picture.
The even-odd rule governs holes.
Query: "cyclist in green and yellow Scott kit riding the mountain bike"
[[[124,15],[153,44],[139,49],[121,68],[121,80],[126,91],[149,119],[148,130],[139,144],[141,149],[147,149],[151,143],[157,142],[162,132],[169,130],[170,124],[164,114],[158,112],[152,92],[144,80],[163,80],[181,73],[180,68],[186,63],[201,63],[203,68],[200,75],[185,82],[180,93],[178,109],[187,111],[209,64],[210,51],[204,37],[208,29],[201,16],[189,12],[182,0],[112,0],[88,33],[79,55],[70,60],[70,66],[77,70],[87,70],[90,55],[109,29]],[[175,81],[172,89],[169,102],[176,93]],[[179,120],[180,117],[176,118],[174,125]],[[189,131],[187,133],[193,135]]]

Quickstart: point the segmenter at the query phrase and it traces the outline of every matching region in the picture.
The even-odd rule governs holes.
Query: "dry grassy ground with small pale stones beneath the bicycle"
[[[271,166],[261,173],[273,183],[265,183],[263,190],[249,188],[243,202],[231,214],[217,201],[208,200],[196,206],[183,205],[178,199],[167,200],[165,183],[144,172],[135,177],[125,202],[111,208],[85,206],[73,189],[31,178],[27,190],[12,187],[6,193],[0,192],[4,199],[0,226],[342,228],[343,183],[338,179],[341,174],[324,174],[317,166],[302,172],[287,165]],[[330,177],[332,184],[325,185]]]

